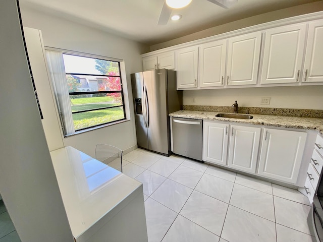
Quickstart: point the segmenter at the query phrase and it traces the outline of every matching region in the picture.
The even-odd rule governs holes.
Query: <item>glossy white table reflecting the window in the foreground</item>
[[[139,181],[71,146],[50,155],[77,242],[147,242]]]

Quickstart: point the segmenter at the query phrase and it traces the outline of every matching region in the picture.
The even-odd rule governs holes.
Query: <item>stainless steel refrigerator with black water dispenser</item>
[[[182,109],[183,94],[176,90],[176,71],[158,69],[131,74],[138,147],[169,156],[169,113]]]

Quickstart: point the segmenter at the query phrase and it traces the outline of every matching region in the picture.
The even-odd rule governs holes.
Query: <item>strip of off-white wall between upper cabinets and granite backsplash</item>
[[[270,105],[261,105],[261,97],[270,97]],[[193,103],[193,98],[195,103]],[[183,92],[184,105],[277,107],[323,109],[323,86],[257,87],[190,90]]]

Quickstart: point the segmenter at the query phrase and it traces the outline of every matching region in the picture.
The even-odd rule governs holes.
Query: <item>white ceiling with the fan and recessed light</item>
[[[254,15],[272,12],[317,0],[239,0],[224,9],[206,0],[192,0],[186,8],[173,10],[183,18],[157,26],[164,0],[20,0],[46,14],[95,27],[146,43],[161,43],[200,30]]]

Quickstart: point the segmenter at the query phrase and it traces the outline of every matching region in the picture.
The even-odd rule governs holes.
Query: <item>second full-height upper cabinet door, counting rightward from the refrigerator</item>
[[[224,85],[226,52],[227,40],[214,41],[200,46],[200,87],[216,87]]]

